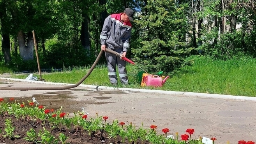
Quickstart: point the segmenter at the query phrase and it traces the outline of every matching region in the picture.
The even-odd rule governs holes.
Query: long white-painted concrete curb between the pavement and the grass
[[[8,81],[31,82],[31,83],[38,83],[38,84],[74,85],[74,84],[58,83],[58,82],[42,82],[42,81],[32,81],[32,80],[25,80],[25,79],[12,79],[12,78],[5,78],[5,77],[0,77],[0,79],[8,80]],[[132,89],[132,88],[122,88],[122,87],[116,88],[116,87],[94,86],[94,85],[86,85],[86,84],[80,84],[79,87],[89,87],[92,89],[109,89],[109,90],[135,91],[135,92],[143,92],[143,93],[177,94],[177,95],[183,95],[183,96],[198,96],[198,97],[208,97],[208,98],[256,101],[256,97],[233,96],[233,95],[225,95],[225,94],[207,94],[207,93],[193,93],[193,92],[182,92],[182,91],[163,91],[163,90],[154,90],[154,89]]]

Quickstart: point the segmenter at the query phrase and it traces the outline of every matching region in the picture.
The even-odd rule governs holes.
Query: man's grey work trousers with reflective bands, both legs
[[[106,46],[106,48],[110,49],[107,46]],[[122,48],[115,48],[115,49],[110,49],[110,50],[113,50],[113,51],[123,54]],[[117,83],[117,71],[116,71],[116,65],[117,65],[118,74],[119,74],[121,83],[128,84],[127,70],[125,68],[126,61],[121,60],[120,57],[118,57],[117,55],[108,53],[106,51],[105,51],[105,56],[106,56],[107,65],[108,65],[108,77],[109,77],[110,83],[111,84]]]

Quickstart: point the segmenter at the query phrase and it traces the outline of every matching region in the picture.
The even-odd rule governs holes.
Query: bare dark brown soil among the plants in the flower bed
[[[19,135],[20,138],[15,139],[9,139],[6,137],[3,137],[2,135],[5,134],[5,119],[11,118],[12,124],[15,128],[14,135]],[[42,124],[44,123],[44,124]],[[0,129],[2,130],[2,133],[0,134],[0,144],[34,144],[33,142],[25,141],[23,138],[27,137],[26,132],[30,130],[30,128],[33,128],[36,133],[38,134],[39,130],[43,130],[43,127],[45,127],[46,130],[51,132],[53,136],[55,136],[55,139],[59,139],[58,136],[61,133],[65,134],[67,137],[69,137],[66,141],[68,144],[121,144],[121,137],[117,136],[117,143],[115,142],[115,139],[111,138],[108,139],[108,134],[106,132],[97,132],[97,136],[92,135],[89,136],[87,132],[84,133],[83,129],[78,127],[78,130],[76,132],[75,129],[71,129],[66,131],[66,129],[51,129],[50,125],[47,121],[42,122],[41,120],[35,120],[34,122],[32,120],[28,119],[18,119],[14,116],[10,115],[0,115]],[[40,137],[37,139],[40,141]],[[61,142],[59,142],[61,144]],[[128,141],[126,140],[125,143],[122,144],[128,144]],[[132,143],[133,144],[133,143]],[[142,144],[142,141],[138,139],[137,144]],[[143,144],[150,144],[149,142],[143,142]]]

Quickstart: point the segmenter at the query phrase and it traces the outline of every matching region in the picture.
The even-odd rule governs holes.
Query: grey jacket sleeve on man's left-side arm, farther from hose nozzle
[[[100,36],[100,39],[101,39],[101,45],[106,45],[106,39],[108,37],[108,32],[109,30],[111,29],[111,16],[109,15],[105,21],[104,21],[104,24],[103,24],[103,27],[102,27],[102,31],[101,31],[101,36]]]

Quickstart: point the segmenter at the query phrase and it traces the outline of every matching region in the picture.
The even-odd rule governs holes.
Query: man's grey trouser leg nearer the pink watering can
[[[126,61],[121,60],[119,57],[117,58],[117,67],[118,67],[118,73],[120,77],[120,81],[122,84],[128,84],[128,76],[127,76],[127,70],[126,70]]]

